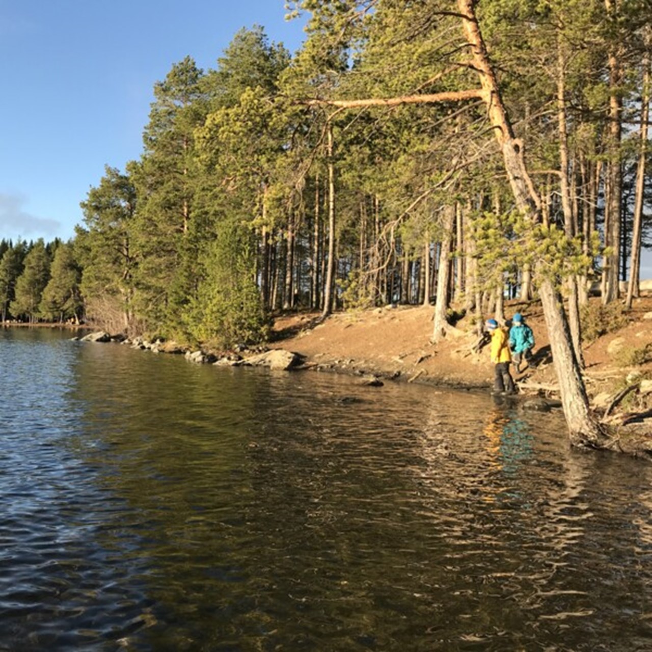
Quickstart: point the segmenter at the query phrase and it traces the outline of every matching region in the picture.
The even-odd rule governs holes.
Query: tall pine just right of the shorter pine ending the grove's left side
[[[186,57],[156,83],[143,135],[145,152],[131,170],[139,197],[135,234],[143,254],[136,273],[140,310],[154,328],[168,334],[178,334],[198,260],[188,234],[198,185],[194,130],[207,110],[202,78],[203,71]]]

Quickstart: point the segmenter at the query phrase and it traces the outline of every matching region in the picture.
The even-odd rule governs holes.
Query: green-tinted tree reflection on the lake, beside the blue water
[[[94,470],[93,559],[111,565],[125,622],[136,617],[145,632],[173,617],[184,623],[179,636],[194,636],[226,602],[224,587],[244,586],[254,377],[233,383],[228,370],[97,344],[80,349],[72,378],[68,399],[81,416],[66,445]],[[142,604],[155,605],[151,619]]]

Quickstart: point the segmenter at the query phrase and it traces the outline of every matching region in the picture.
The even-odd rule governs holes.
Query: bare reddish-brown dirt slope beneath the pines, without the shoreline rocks
[[[505,317],[511,318],[514,312],[521,312],[533,329],[538,359],[537,366],[516,376],[520,391],[554,396],[557,380],[550,355],[546,355],[549,348],[541,305],[507,302]],[[434,346],[430,342],[433,313],[432,306],[387,306],[334,314],[318,325],[314,325],[315,313],[280,316],[274,322],[272,346],[301,353],[308,366],[325,370],[452,387],[490,387],[493,367],[488,347],[472,351],[478,339],[473,319],[458,321],[445,340]],[[618,355],[623,348],[640,349],[652,343],[651,313],[652,297],[635,299],[625,327],[584,347],[585,382],[592,399],[604,401],[617,393],[630,372],[652,378],[652,360],[626,367]]]

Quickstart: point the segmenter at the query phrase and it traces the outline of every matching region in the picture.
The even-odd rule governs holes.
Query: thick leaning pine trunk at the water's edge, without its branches
[[[524,215],[534,222],[539,215],[541,200],[531,183],[524,163],[522,143],[514,138],[509,117],[505,111],[494,69],[482,40],[474,0],[457,0],[462,14],[462,25],[467,42],[472,48],[473,68],[479,75],[482,88],[486,91],[484,101],[494,126],[494,133],[503,151],[505,170],[514,194],[516,205]],[[539,285],[539,294],[548,327],[552,354],[559,379],[559,389],[564,416],[569,428],[569,437],[574,445],[600,445],[604,434],[593,418],[582,381],[577,359],[573,352],[563,304],[552,281],[544,276]]]

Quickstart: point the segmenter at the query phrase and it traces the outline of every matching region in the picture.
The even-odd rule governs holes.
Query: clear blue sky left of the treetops
[[[153,87],[241,27],[295,52],[283,0],[0,0],[0,238],[68,239],[104,165],[140,157]]]

